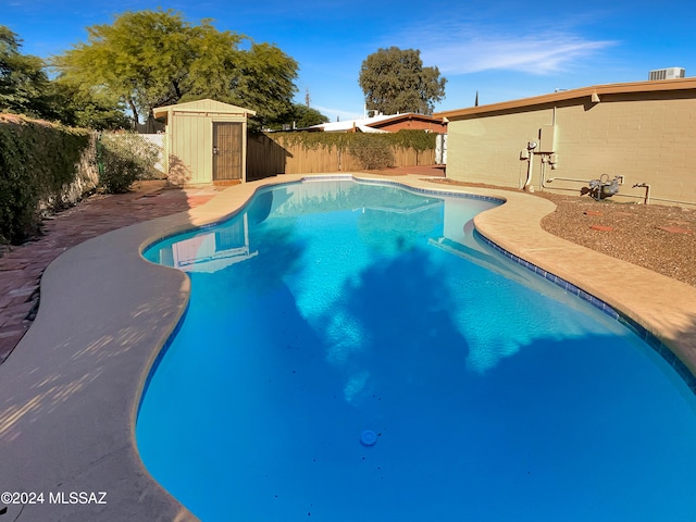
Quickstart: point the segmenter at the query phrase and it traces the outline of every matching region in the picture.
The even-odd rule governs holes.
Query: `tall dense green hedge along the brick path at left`
[[[38,232],[41,207],[64,204],[89,144],[86,129],[0,114],[1,243],[22,243]]]

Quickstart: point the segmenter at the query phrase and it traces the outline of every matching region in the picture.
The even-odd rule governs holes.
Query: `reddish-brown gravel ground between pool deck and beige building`
[[[446,178],[442,183],[486,187]],[[696,286],[696,207],[596,201],[550,192],[534,196],[556,203],[556,211],[542,220],[545,231]]]

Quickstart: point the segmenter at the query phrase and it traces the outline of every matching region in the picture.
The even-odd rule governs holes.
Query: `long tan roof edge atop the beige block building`
[[[635,92],[661,92],[668,90],[695,90],[696,77],[675,78],[675,79],[658,79],[652,82],[632,82],[625,84],[607,84],[595,85],[591,87],[581,87],[579,89],[560,90],[550,95],[535,96],[532,98],[521,98],[518,100],[504,101],[500,103],[492,103],[488,105],[469,107],[465,109],[457,109],[453,111],[437,112],[433,114],[435,117],[447,119],[447,121],[462,120],[476,114],[485,114],[489,112],[506,111],[520,109],[525,107],[542,105],[545,103],[554,103],[566,100],[587,98],[588,102],[599,103],[604,95],[625,95]]]

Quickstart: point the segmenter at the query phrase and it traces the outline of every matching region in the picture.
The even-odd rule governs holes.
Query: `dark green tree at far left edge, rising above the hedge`
[[[0,111],[44,117],[49,85],[44,61],[20,53],[21,41],[0,25]]]

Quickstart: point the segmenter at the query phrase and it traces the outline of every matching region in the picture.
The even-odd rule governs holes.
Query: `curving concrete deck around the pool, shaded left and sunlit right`
[[[539,221],[554,210],[550,201],[443,187],[415,175],[355,176],[506,199],[476,216],[485,237],[607,302],[696,371],[696,288],[544,232]],[[135,445],[144,383],[189,288],[184,273],[153,265],[139,251],[163,236],[220,221],[259,187],[303,177],[231,187],[187,212],[82,243],[49,265],[38,315],[0,365],[0,493],[35,494],[27,497],[35,504],[0,499],[0,509],[8,506],[0,520],[196,520],[150,477]],[[79,492],[86,495],[71,497]]]

